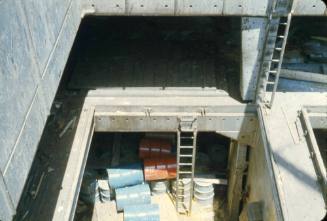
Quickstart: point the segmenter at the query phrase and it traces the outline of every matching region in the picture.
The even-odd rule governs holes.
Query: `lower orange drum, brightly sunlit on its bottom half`
[[[146,181],[176,178],[176,156],[144,159],[144,179]]]

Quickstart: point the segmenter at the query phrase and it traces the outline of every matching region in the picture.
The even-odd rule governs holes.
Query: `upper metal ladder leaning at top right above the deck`
[[[269,108],[273,105],[278,86],[292,20],[293,1],[275,0],[271,7],[256,98],[257,103],[265,103]],[[271,96],[268,99],[267,89],[271,90]]]

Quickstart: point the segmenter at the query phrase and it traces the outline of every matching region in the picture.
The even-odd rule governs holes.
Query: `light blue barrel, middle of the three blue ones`
[[[123,211],[126,206],[150,204],[151,193],[148,184],[115,189],[117,211]]]

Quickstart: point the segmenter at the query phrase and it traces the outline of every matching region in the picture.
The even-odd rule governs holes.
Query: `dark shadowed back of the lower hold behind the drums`
[[[109,168],[112,161],[114,139],[120,134],[121,152],[120,164],[135,163],[140,161],[138,156],[139,144],[144,137],[155,137],[169,140],[172,144],[172,153],[176,154],[176,133],[94,133],[87,167],[91,169]],[[225,176],[227,170],[228,148],[230,139],[216,133],[200,132],[197,136],[197,162],[196,168],[201,172],[201,165],[205,170],[214,171]],[[206,171],[202,172],[206,172]]]

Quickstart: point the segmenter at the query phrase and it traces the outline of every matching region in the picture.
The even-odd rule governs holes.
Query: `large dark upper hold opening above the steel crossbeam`
[[[216,88],[240,100],[239,17],[86,17],[71,89]]]

